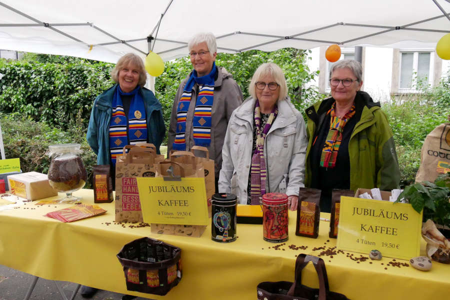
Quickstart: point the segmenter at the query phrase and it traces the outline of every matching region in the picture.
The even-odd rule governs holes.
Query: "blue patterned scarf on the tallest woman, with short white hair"
[[[214,100],[214,79],[217,68],[212,63],[209,74],[197,77],[197,71],[193,70],[184,85],[183,93],[176,107],[176,132],[172,148],[174,150],[186,150],[186,116],[192,97],[192,87],[199,85],[195,110],[192,119],[193,140],[195,145],[208,147],[211,143],[211,110]]]

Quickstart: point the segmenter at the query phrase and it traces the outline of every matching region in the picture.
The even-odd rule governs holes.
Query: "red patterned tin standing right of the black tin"
[[[280,192],[269,192],[262,195],[262,227],[263,238],[270,242],[286,241],[287,225],[287,195]]]

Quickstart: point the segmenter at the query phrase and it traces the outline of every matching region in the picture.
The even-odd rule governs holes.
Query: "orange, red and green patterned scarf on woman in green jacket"
[[[354,104],[350,110],[342,118],[336,116],[336,102],[326,112],[330,114],[329,131],[323,145],[322,154],[320,155],[320,166],[334,167],[336,165],[337,152],[339,151],[340,142],[342,141],[343,127],[347,121],[354,115]]]

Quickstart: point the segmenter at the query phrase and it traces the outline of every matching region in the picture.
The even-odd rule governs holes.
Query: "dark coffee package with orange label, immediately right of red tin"
[[[300,187],[295,235],[317,238],[320,221],[320,189]]]

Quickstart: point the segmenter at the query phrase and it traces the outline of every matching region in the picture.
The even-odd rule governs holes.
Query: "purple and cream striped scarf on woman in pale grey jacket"
[[[267,122],[264,127],[260,128],[261,125],[261,111],[259,108],[259,101],[256,99],[256,105],[254,106],[254,125],[256,127],[256,149],[251,156],[251,189],[250,198],[251,205],[259,205],[260,197],[265,194],[265,160],[264,160],[264,139],[270,129],[273,120],[278,114],[278,107],[275,104],[272,112],[270,112]]]

